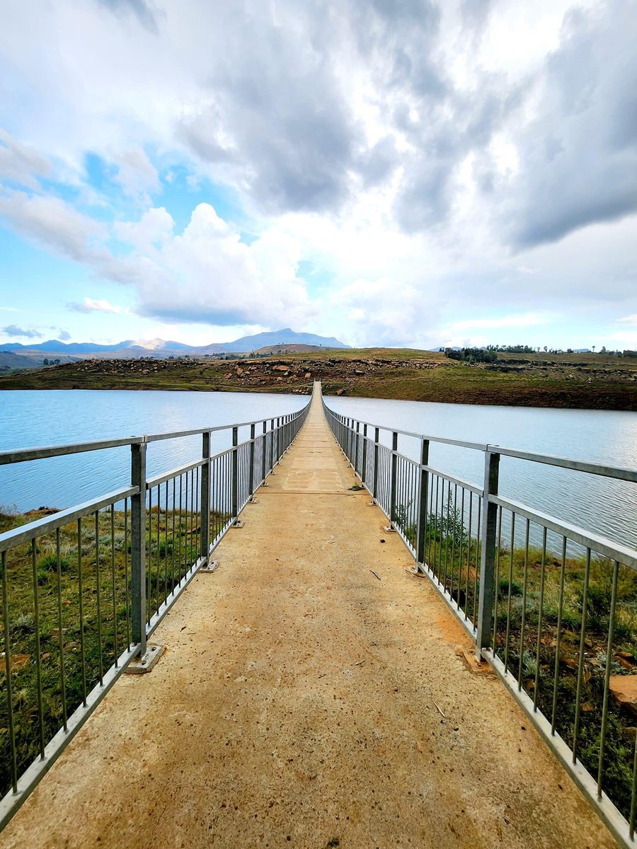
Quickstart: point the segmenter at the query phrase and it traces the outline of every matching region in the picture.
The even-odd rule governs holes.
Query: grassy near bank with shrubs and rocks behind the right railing
[[[416,530],[406,516],[400,507],[397,524],[413,545]],[[479,544],[453,508],[430,514],[427,527],[426,562],[475,622]],[[618,678],[637,674],[637,573],[595,553],[587,562],[585,555],[568,556],[566,550],[502,542],[496,551],[495,588],[496,655],[595,778],[609,672],[603,789],[629,817],[637,704],[622,705],[613,690]]]

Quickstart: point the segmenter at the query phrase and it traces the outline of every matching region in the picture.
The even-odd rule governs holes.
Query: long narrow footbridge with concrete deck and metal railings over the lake
[[[326,413],[319,385],[302,413],[248,427],[214,456],[204,434],[201,459],[155,479],[144,465],[155,437],[132,438],[130,487],[0,535],[0,846],[632,845],[632,773],[628,796],[606,784],[617,764],[605,746],[621,734],[611,661],[582,711],[595,637],[565,613],[567,544],[583,544],[590,566],[610,543],[499,498],[492,447],[484,486],[459,481],[429,466],[428,438],[409,458],[397,437],[384,445]],[[4,461],[37,459],[24,454]],[[558,531],[554,565],[546,535]],[[49,537],[50,588],[36,543]],[[634,553],[610,554],[608,658],[619,570],[634,568]],[[28,650],[12,610],[20,556],[33,569]],[[65,616],[82,599],[74,633]],[[595,745],[600,775],[576,756]]]

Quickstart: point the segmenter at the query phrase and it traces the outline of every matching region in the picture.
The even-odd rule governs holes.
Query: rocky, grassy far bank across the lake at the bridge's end
[[[525,407],[637,410],[637,359],[506,354],[462,363],[443,353],[362,349],[237,360],[84,360],[0,377],[0,389],[135,389],[307,393]]]

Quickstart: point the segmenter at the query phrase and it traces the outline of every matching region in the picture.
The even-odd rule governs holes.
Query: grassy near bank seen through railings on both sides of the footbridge
[[[399,506],[397,524],[413,543],[415,528]],[[38,518],[0,515],[0,531]],[[213,529],[224,518],[211,514]],[[480,550],[459,511],[431,514],[426,561],[467,616],[475,618]],[[149,512],[148,615],[196,559],[199,527],[179,511]],[[507,548],[496,563],[493,616],[495,650],[521,688],[569,745],[578,722],[578,757],[596,775],[600,751],[614,565],[608,559],[561,556],[549,548]],[[612,676],[637,673],[637,575],[617,571],[617,604],[610,658]],[[13,549],[7,559],[11,704],[21,773],[37,756],[41,739],[38,680],[42,687],[42,738],[115,661],[130,640],[130,523],[121,510],[75,523]],[[38,615],[36,616],[35,600]],[[4,632],[4,627],[2,628]],[[3,640],[4,640],[3,633]],[[583,650],[582,650],[583,647]],[[4,663],[0,677],[5,678]],[[579,686],[579,692],[578,692]],[[577,716],[576,716],[577,711]],[[604,789],[628,814],[637,719],[612,698],[606,718]],[[11,748],[8,689],[0,686],[0,783],[8,790]]]

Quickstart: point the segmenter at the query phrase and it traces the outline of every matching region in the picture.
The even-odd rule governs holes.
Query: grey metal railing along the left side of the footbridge
[[[130,486],[0,533],[0,829],[121,672],[136,659],[144,665],[150,635],[279,463],[308,408],[210,430],[0,453],[2,465],[131,452]],[[223,432],[232,445],[212,455],[211,437]],[[199,458],[146,475],[150,443],[192,436],[201,438]]]

